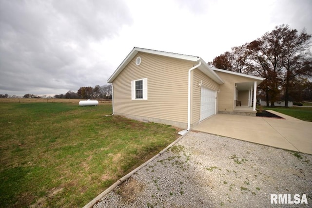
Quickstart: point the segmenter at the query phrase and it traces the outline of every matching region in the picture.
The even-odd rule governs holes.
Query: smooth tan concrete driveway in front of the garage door
[[[285,119],[216,114],[193,130],[312,154],[312,122],[268,111]]]

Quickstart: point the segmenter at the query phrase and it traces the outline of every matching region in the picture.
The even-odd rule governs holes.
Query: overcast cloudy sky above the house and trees
[[[312,0],[0,0],[0,94],[105,85],[133,47],[212,61],[275,26],[312,34]]]

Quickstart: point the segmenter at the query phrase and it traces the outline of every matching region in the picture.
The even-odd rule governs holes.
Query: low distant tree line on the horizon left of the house
[[[0,94],[0,98],[17,98],[19,96],[8,94]],[[46,96],[46,95],[33,95],[25,94],[23,98],[64,98],[64,99],[112,99],[112,85],[96,85],[93,87],[80,87],[77,92],[68,91],[66,94]]]

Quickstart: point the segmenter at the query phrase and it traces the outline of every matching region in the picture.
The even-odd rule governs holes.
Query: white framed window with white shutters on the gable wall
[[[131,81],[131,99],[147,100],[147,78]]]

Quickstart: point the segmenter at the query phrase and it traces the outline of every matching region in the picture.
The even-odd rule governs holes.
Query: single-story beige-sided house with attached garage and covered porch
[[[216,113],[255,116],[263,80],[211,68],[200,57],[135,47],[108,83],[113,114],[190,130]]]

